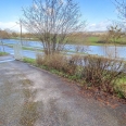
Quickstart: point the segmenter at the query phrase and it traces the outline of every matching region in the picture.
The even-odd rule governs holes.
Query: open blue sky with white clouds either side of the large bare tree
[[[83,20],[87,21],[86,30],[105,30],[111,21],[117,20],[116,8],[112,0],[75,0],[78,2]],[[20,32],[18,18],[22,8],[32,5],[33,0],[0,0],[0,28]],[[23,32],[26,32],[23,29]]]

